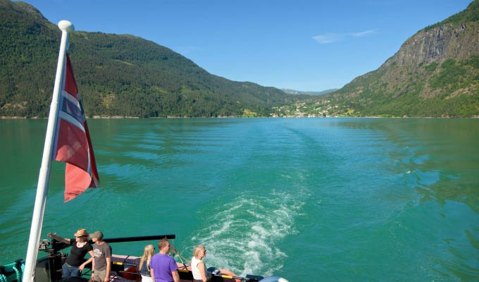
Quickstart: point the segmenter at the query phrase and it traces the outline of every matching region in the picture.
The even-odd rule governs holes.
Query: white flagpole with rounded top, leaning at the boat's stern
[[[32,228],[30,229],[30,239],[28,240],[27,257],[25,258],[25,271],[23,272],[24,282],[32,282],[33,276],[35,276],[35,264],[37,263],[38,245],[40,240],[40,233],[42,232],[46,195],[48,194],[48,186],[50,182],[51,153],[54,146],[54,134],[58,117],[58,100],[60,98],[61,85],[63,80],[66,49],[68,48],[68,33],[75,30],[73,24],[70,23],[68,20],[61,20],[58,23],[58,27],[60,27],[61,30],[60,52],[58,54],[58,65],[56,66],[54,96],[51,99],[48,125],[46,125],[45,145],[43,148],[42,166],[40,167],[40,174],[38,177],[35,207],[33,208]]]

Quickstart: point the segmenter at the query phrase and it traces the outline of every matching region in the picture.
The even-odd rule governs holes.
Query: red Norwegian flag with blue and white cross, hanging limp
[[[66,163],[64,201],[68,202],[87,188],[98,188],[99,177],[82,98],[68,55],[64,70],[52,159]]]

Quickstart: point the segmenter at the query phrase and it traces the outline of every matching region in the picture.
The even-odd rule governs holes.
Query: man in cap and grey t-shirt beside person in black
[[[92,279],[97,282],[108,282],[110,281],[111,247],[103,240],[103,233],[100,231],[95,231],[90,237],[94,242]]]

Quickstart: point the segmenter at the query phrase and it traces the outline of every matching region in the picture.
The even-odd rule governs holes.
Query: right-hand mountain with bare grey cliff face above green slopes
[[[420,30],[375,71],[284,115],[479,116],[479,0]],[[278,110],[277,110],[278,112]]]

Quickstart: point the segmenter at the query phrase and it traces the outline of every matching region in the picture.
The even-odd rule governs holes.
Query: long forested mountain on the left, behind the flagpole
[[[48,115],[61,31],[23,2],[0,0],[0,116]],[[70,58],[87,116],[264,116],[298,95],[204,71],[132,35],[74,32]]]

